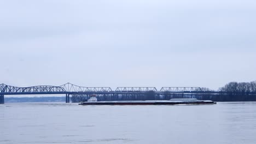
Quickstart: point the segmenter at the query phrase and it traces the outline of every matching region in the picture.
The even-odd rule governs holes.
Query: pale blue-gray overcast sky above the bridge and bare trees
[[[256,80],[255,0],[0,0],[0,83],[199,86]]]

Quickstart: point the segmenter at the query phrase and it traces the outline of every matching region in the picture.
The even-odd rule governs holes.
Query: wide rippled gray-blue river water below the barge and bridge
[[[256,143],[256,103],[4,104],[0,143]]]

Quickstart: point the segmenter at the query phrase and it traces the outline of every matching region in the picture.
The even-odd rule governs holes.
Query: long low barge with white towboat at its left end
[[[170,100],[131,100],[131,101],[97,101],[95,95],[87,101],[79,105],[199,105],[199,104],[216,104],[211,100],[197,100],[197,99],[170,99]]]

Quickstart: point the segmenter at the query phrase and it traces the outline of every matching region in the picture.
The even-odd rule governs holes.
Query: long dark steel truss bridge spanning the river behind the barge
[[[74,94],[144,94],[147,92],[155,94],[166,93],[190,93],[190,94],[217,94],[215,91],[202,91],[200,87],[162,87],[160,91],[155,87],[117,87],[114,91],[110,87],[82,87],[66,83],[61,86],[31,86],[15,87],[5,84],[0,85],[0,104],[4,103],[4,95],[28,95],[28,94],[66,94],[66,103],[69,103],[69,95]]]

